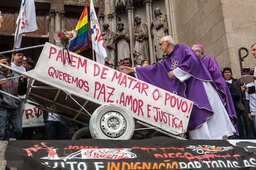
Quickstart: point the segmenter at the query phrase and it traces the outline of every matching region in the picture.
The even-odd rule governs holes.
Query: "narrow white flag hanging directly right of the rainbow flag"
[[[105,64],[107,57],[106,48],[104,46],[103,38],[100,31],[100,23],[93,6],[93,0],[90,2],[90,26],[92,33],[92,49],[95,51],[96,62]]]

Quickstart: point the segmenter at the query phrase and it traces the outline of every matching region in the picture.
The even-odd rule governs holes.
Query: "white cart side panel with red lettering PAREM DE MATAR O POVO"
[[[187,131],[193,102],[46,42],[32,76],[95,103],[118,103],[144,123],[173,134]],[[64,61],[63,61],[64,60]]]

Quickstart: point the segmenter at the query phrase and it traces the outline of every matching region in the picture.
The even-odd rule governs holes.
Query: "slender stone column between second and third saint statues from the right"
[[[130,59],[132,59],[132,66],[134,67],[134,7],[127,6],[126,11],[128,13],[129,24],[129,38],[130,38]]]

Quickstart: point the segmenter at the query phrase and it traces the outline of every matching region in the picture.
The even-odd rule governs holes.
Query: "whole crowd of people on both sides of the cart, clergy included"
[[[244,75],[235,79],[231,68],[221,71],[215,58],[204,54],[201,44],[189,47],[163,36],[158,45],[163,54],[168,54],[160,62],[141,60],[132,67],[132,60],[127,57],[117,65],[113,60],[107,60],[105,65],[192,100],[188,139],[256,138],[254,70],[244,68]],[[256,58],[256,44],[252,45],[252,54]],[[0,63],[21,72],[33,69],[33,60],[24,58],[23,51],[15,51],[12,59],[1,55]],[[23,139],[27,78],[3,66],[0,73],[0,140]],[[70,121],[48,111],[43,114],[44,139],[68,139]],[[26,130],[23,129],[25,134],[30,133]]]

